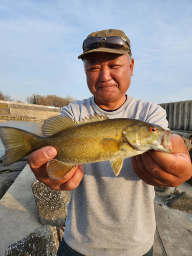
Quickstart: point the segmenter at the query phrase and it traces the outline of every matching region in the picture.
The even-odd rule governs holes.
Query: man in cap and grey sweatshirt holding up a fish
[[[81,58],[93,97],[63,107],[61,115],[81,120],[93,114],[135,118],[167,129],[166,113],[157,104],[126,95],[133,75],[130,40],[120,30],[90,34]],[[118,177],[109,161],[72,168],[51,180],[46,164],[57,154],[47,146],[32,153],[36,178],[56,190],[72,190],[64,240],[58,255],[153,255],[154,186],[178,186],[192,175],[189,154],[180,136],[170,139],[172,154],[149,151],[127,158]],[[83,154],[83,153],[82,153]]]

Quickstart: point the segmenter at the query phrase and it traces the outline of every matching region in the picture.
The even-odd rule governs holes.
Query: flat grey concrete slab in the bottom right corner
[[[155,216],[159,237],[165,254],[156,256],[192,255],[192,214],[164,206],[162,198],[156,195]],[[155,244],[156,249],[156,244]]]

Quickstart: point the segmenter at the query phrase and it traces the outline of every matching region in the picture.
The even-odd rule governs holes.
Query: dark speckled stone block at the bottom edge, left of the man
[[[61,236],[63,231],[61,230]],[[56,256],[59,240],[56,227],[43,226],[6,248],[5,256]]]

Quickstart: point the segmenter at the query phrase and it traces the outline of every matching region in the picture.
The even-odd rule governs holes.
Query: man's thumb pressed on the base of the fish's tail
[[[28,156],[28,163],[31,168],[38,169],[57,155],[57,151],[52,146],[45,146],[34,151]]]

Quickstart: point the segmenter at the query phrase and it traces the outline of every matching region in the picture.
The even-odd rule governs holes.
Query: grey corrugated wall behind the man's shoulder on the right
[[[159,105],[166,110],[170,130],[192,131],[192,100]]]

